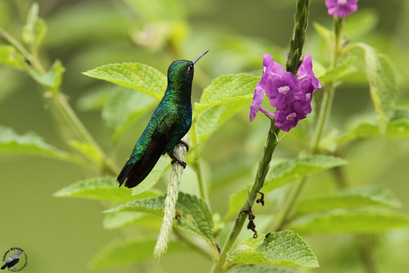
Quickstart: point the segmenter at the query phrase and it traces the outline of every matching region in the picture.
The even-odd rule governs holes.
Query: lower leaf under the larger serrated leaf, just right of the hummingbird
[[[242,98],[233,102],[225,102],[205,111],[195,123],[197,140],[204,143],[226,120],[244,107],[249,107],[252,98]]]

